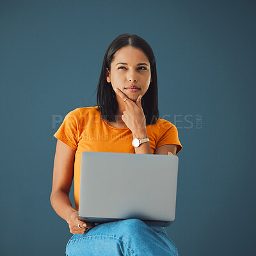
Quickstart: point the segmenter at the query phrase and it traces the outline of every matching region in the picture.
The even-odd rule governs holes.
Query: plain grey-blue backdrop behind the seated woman
[[[108,45],[134,33],[183,146],[168,235],[179,255],[255,255],[255,17],[255,1],[2,0],[0,254],[65,255],[52,120],[96,104]]]

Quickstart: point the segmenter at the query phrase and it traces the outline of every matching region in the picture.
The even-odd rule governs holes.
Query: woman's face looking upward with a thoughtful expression
[[[145,95],[151,81],[147,56],[131,45],[122,47],[115,53],[111,71],[109,72],[107,68],[106,80],[111,83],[113,90],[118,88],[129,99],[136,101],[139,95]],[[138,89],[129,89],[131,86],[136,86]]]

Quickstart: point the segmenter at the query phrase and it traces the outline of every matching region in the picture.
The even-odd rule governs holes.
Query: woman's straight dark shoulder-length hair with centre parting
[[[150,45],[140,36],[124,33],[117,36],[106,50],[102,69],[100,73],[99,84],[97,86],[97,108],[100,111],[101,118],[109,122],[116,122],[115,115],[118,109],[116,94],[112,86],[106,81],[106,68],[110,71],[111,63],[114,59],[115,52],[131,45],[143,51],[149,62],[152,81],[148,90],[141,99],[141,106],[146,119],[146,124],[155,124],[159,118],[158,100],[157,100],[157,76],[156,76],[156,59]]]

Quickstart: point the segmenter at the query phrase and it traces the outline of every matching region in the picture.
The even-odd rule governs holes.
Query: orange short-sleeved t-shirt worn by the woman
[[[175,125],[158,118],[156,124],[147,125],[150,147],[154,154],[157,147],[176,144],[182,149]],[[132,132],[128,127],[115,128],[100,118],[95,107],[76,108],[64,118],[54,137],[76,150],[74,161],[74,196],[76,210],[79,206],[81,153],[83,151],[119,152],[135,154]]]

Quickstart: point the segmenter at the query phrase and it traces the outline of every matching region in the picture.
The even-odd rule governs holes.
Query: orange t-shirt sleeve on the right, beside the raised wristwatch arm
[[[182,150],[177,127],[167,120],[163,119],[162,121],[163,122],[160,125],[159,140],[157,141],[156,148],[166,144],[175,144],[177,145],[177,155],[180,150]]]

